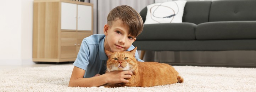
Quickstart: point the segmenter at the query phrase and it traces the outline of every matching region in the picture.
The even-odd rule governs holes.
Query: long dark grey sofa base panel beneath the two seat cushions
[[[244,40],[148,40],[134,41],[137,50],[147,51],[232,51],[256,50],[256,39]]]

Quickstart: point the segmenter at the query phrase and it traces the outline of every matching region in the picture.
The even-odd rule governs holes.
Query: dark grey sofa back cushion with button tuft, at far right
[[[256,21],[256,0],[212,1],[209,22]]]

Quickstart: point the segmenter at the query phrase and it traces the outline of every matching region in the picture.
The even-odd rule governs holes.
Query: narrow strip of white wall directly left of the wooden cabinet
[[[21,0],[21,61],[34,64],[33,48],[33,0]]]

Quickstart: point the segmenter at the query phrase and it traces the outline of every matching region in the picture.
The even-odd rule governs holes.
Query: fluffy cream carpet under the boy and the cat
[[[219,92],[256,91],[256,68],[224,68],[224,67],[194,67],[174,66],[184,78],[182,84],[154,87],[68,87],[73,65],[56,65],[50,67],[30,67],[12,70],[0,70],[0,91],[106,91],[106,92]]]

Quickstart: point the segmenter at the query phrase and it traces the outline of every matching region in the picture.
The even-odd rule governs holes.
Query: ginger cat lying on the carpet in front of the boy
[[[182,83],[183,78],[169,64],[157,62],[138,62],[135,57],[137,47],[132,51],[110,52],[105,50],[107,60],[107,71],[130,70],[133,72],[128,83],[106,84],[105,87],[152,87]]]

